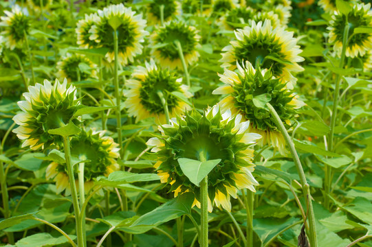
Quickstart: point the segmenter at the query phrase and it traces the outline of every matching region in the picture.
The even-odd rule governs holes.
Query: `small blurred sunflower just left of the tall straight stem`
[[[87,64],[91,69],[88,71],[80,71],[79,64]],[[58,78],[67,78],[68,82],[77,82],[79,77],[80,81],[87,80],[88,78],[97,77],[97,65],[84,55],[80,54],[67,54],[60,62],[57,62]]]

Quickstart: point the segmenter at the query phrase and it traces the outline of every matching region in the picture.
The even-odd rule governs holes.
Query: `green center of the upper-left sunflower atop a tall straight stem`
[[[118,51],[126,51],[128,47],[134,47],[135,25],[131,23],[129,18],[122,20],[122,25],[117,29],[118,32]],[[113,28],[109,24],[109,20],[103,19],[102,25],[98,26],[98,37],[100,37],[100,44],[103,47],[109,48],[113,51]]]

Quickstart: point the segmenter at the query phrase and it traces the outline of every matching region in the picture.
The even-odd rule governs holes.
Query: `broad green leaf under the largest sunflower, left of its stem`
[[[138,218],[132,226],[152,225],[157,226],[169,220],[176,219],[184,214],[191,214],[191,206],[193,205],[195,196],[193,193],[183,193],[164,204],[157,207],[153,211],[146,213]]]

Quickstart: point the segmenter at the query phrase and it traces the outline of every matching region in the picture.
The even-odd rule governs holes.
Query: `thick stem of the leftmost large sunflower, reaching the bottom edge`
[[[76,235],[78,238],[78,246],[85,246],[83,236],[83,222],[80,222],[80,207],[78,201],[78,191],[76,191],[76,184],[74,178],[74,167],[72,167],[71,151],[69,146],[69,137],[63,137],[63,145],[65,148],[65,160],[67,166],[67,175],[69,177],[69,186],[71,187],[72,205],[74,206],[75,220],[76,220]],[[80,224],[81,223],[81,224]]]

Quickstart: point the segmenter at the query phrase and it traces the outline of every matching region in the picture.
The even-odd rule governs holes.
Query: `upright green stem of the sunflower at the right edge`
[[[344,27],[344,36],[342,38],[342,51],[341,51],[341,58],[340,58],[340,64],[338,67],[342,69],[344,67],[344,59],[347,49],[347,38],[349,36],[349,23],[346,23]],[[338,106],[338,96],[340,95],[340,82],[341,82],[341,75],[338,73],[336,75],[336,86],[335,91],[333,93],[333,108],[332,108],[332,115],[331,115],[331,131],[329,132],[329,150],[333,151],[333,134],[334,129],[336,126],[336,116],[337,116],[337,106]],[[332,167],[329,165],[325,165],[326,175],[325,176],[325,207],[329,209],[329,192],[331,189],[331,174],[332,174]]]

